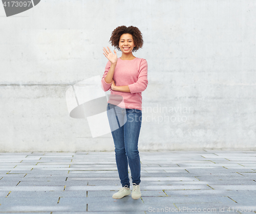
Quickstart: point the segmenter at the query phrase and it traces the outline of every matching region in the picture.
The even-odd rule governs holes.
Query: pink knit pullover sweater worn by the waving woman
[[[111,62],[106,63],[105,72],[101,79],[101,88],[104,91],[110,90],[111,94],[122,96],[123,103],[117,106],[121,108],[139,109],[142,110],[142,95],[141,92],[147,87],[147,62],[142,58],[134,58],[133,60],[117,59],[117,64],[114,71],[113,80],[116,86],[128,85],[131,92],[115,91],[111,89],[112,83],[105,82],[105,76],[108,74]],[[111,103],[111,99],[108,101]],[[112,103],[116,105],[115,103]]]

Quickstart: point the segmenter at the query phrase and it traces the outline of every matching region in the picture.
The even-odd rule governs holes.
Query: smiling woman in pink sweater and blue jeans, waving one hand
[[[137,58],[133,52],[143,45],[142,33],[137,27],[117,27],[110,38],[111,45],[122,52],[117,58],[110,48],[103,49],[109,60],[101,80],[104,91],[111,91],[107,114],[115,144],[115,157],[122,188],[112,197],[120,199],[130,195],[128,162],[133,182],[132,198],[139,199],[140,156],[138,139],[142,120],[141,92],[147,87],[147,62]],[[128,160],[127,160],[128,158]]]

